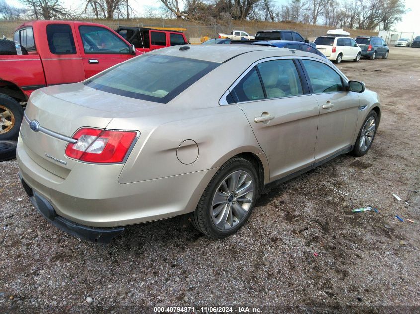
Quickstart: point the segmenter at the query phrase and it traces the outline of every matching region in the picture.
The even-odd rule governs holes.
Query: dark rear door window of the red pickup
[[[76,54],[72,29],[67,24],[47,25],[47,40],[50,52],[56,55]]]

